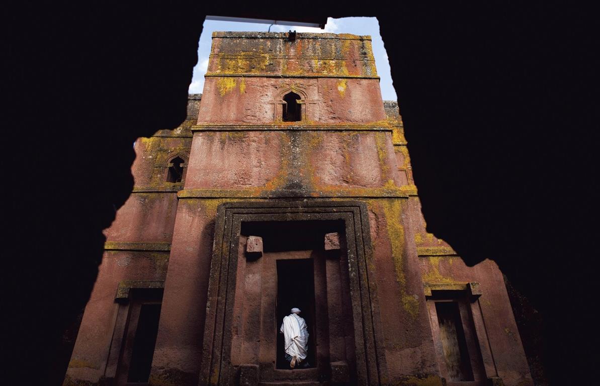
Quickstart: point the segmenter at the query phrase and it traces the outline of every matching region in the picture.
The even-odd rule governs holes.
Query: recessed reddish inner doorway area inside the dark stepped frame
[[[234,367],[258,366],[264,383],[328,381],[332,362],[354,366],[347,256],[340,248],[325,250],[325,235],[343,238],[343,231],[343,221],[325,219],[242,222],[231,331]],[[253,247],[248,253],[251,240],[259,240],[262,251]],[[302,310],[309,332],[308,357],[293,370],[278,333],[292,307]]]

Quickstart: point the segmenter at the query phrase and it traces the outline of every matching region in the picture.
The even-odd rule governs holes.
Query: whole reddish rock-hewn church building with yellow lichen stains
[[[215,33],[188,119],[135,150],[65,385],[533,384],[502,273],[425,230],[370,37]]]

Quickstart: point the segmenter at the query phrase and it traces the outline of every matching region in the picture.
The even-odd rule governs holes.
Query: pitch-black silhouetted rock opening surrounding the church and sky
[[[594,382],[600,50],[592,10],[566,2],[12,7],[2,23],[5,159],[19,159],[28,178],[3,189],[11,326],[3,384],[61,385],[102,231],[133,187],[131,144],[185,119],[205,15],[322,24],[376,16],[427,230],[469,266],[496,261],[523,304],[521,338],[547,384]],[[57,161],[65,158],[68,173]]]

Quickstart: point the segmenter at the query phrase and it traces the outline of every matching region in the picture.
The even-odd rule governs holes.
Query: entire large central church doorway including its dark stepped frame
[[[326,247],[326,234],[337,244]],[[368,259],[362,203],[222,204],[199,384],[376,384]],[[304,307],[306,369],[283,360],[278,330],[290,307]]]

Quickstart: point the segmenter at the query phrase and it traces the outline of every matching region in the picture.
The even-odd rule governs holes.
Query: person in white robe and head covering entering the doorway
[[[308,328],[304,318],[298,315],[301,312],[300,309],[294,307],[291,312],[290,315],[283,317],[279,331],[284,337],[286,360],[290,362],[290,367],[293,369],[308,355]],[[302,367],[307,365],[304,363]]]

